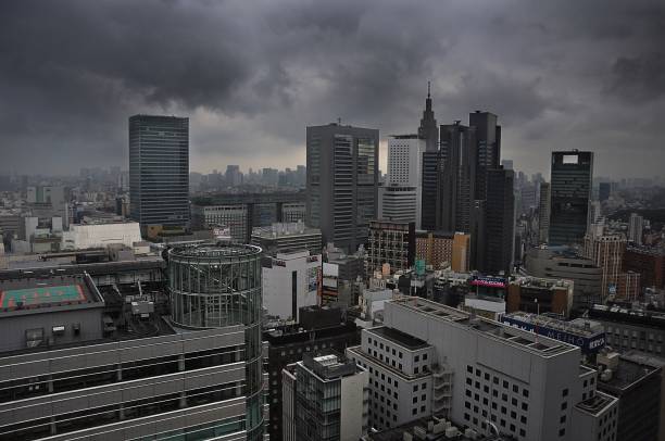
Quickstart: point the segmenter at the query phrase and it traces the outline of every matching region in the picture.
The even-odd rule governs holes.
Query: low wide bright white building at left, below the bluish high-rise
[[[141,240],[137,222],[71,225],[70,230],[62,234],[62,249],[86,250],[120,243],[133,248],[134,243]]]

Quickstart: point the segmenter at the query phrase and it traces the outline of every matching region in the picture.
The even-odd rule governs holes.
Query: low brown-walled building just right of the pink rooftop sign
[[[573,310],[573,287],[572,280],[517,277],[509,285],[507,312],[555,313],[567,317]]]

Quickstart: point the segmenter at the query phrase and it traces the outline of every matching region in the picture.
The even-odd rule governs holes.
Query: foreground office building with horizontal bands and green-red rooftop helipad
[[[185,331],[85,273],[3,276],[0,291],[1,438],[259,439],[243,326]]]

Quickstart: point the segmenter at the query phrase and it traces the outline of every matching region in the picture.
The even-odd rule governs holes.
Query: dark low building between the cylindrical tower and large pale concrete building
[[[283,439],[281,369],[300,362],[303,353],[316,354],[329,350],[343,353],[348,346],[360,341],[359,329],[351,322],[344,323],[338,308],[303,308],[299,315],[299,324],[263,332],[263,341],[267,342],[271,440]]]

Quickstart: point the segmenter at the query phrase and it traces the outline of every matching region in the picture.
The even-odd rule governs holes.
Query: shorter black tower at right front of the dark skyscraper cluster
[[[510,274],[513,267],[515,238],[514,173],[511,169],[487,171],[485,219],[485,273]]]

